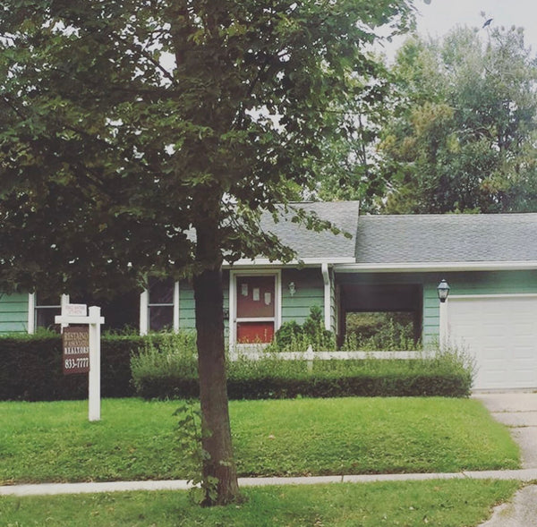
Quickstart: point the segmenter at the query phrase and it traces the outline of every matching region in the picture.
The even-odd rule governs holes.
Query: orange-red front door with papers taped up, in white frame
[[[236,344],[268,344],[272,341],[279,319],[278,290],[277,275],[234,276]]]

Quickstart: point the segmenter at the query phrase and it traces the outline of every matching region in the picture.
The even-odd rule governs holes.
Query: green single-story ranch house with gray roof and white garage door
[[[475,388],[537,388],[537,214],[360,216],[354,201],[295,207],[352,238],[263,218],[263,228],[292,247],[297,260],[225,266],[230,344],[269,342],[283,322],[303,322],[313,305],[339,341],[349,313],[405,312],[416,339],[428,343],[442,332],[473,353]],[[441,280],[450,287],[443,304]],[[0,332],[48,326],[70,300],[78,299],[0,295]],[[141,334],[194,327],[186,281],[153,282],[122,306],[128,308],[103,306],[110,326],[128,324]]]

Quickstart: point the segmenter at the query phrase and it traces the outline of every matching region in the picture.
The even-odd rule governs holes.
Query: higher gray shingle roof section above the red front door
[[[290,211],[282,213],[282,217],[276,224],[272,217],[264,215],[261,218],[261,228],[273,234],[288,247],[296,251],[299,259],[354,259],[356,244],[356,228],[358,225],[359,203],[358,201],[332,201],[294,203],[291,207],[303,208],[308,212],[314,212],[318,217],[328,220],[338,229],[352,234],[347,238],[343,234],[332,234],[330,231],[317,233],[307,229],[303,225],[297,225],[291,221],[294,216]]]

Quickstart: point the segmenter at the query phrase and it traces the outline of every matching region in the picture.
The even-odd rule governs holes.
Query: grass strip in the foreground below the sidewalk
[[[244,489],[241,506],[193,506],[185,492],[0,498],[13,527],[406,527],[477,525],[516,490],[513,481],[433,480]]]

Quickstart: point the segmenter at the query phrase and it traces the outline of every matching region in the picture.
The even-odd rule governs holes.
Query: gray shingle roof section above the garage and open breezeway
[[[537,214],[361,216],[356,263],[537,261]]]

